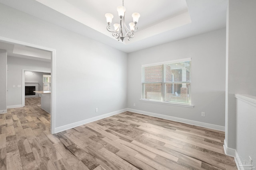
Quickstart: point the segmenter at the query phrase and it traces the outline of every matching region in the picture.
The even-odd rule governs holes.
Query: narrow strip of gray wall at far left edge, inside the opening
[[[6,113],[7,53],[0,49],[0,113]]]

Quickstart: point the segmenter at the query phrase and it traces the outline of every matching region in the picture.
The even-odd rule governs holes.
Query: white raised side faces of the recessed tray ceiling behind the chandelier
[[[112,34],[109,34],[109,32],[107,31],[105,21],[101,22],[100,20],[97,20],[96,18],[88,15],[86,12],[79,9],[78,7],[72,5],[70,2],[67,2],[65,0],[54,0],[54,1],[36,0],[36,1],[114,39]],[[154,25],[151,24],[152,26],[143,27],[142,29],[140,28],[140,30],[137,31],[138,33],[136,34],[136,37],[134,37],[132,41],[124,41],[124,42],[119,41],[119,42],[123,44],[130,44],[135,41],[146,39],[156,34],[163,33],[165,31],[170,31],[170,29],[174,29],[176,27],[180,27],[188,23],[191,23],[188,8],[187,6],[184,6],[184,8],[185,7],[186,7],[185,12],[184,10],[178,11],[175,15],[169,16],[166,20],[163,20],[160,23],[154,23]],[[175,6],[173,8],[175,8]],[[143,13],[141,15],[142,15],[141,20],[143,20],[143,17],[147,19],[146,16],[143,16]],[[104,18],[104,15],[102,15],[102,18]],[[139,24],[138,24],[138,27],[140,27]]]

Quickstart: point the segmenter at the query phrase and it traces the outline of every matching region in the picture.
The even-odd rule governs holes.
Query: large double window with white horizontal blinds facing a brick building
[[[191,58],[142,65],[142,100],[191,105]]]

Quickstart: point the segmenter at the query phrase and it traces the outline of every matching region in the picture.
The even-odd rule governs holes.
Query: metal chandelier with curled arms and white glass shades
[[[133,22],[129,23],[130,29],[128,29],[124,21],[124,15],[126,11],[126,8],[124,7],[124,0],[123,5],[118,6],[116,10],[118,12],[118,16],[120,17],[120,24],[114,23],[114,31],[111,31],[110,23],[112,22],[112,18],[114,18],[114,16],[110,13],[107,13],[105,14],[108,23],[107,30],[111,32],[112,36],[115,37],[118,41],[121,39],[123,42],[125,37],[128,37],[128,41],[130,41],[130,39],[134,37],[134,32],[138,29],[137,23],[140,18],[140,14],[137,12],[132,14]]]

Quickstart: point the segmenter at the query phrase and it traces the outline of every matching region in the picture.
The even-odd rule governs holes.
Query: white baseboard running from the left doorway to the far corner
[[[117,115],[117,114],[125,112],[125,111],[127,111],[127,109],[121,109],[121,110],[113,111],[111,113],[107,113],[107,114],[104,114],[104,115],[92,117],[90,119],[85,119],[85,120],[78,121],[78,122],[75,122],[75,123],[70,123],[68,125],[64,125],[64,126],[61,126],[61,127],[56,127],[54,129],[54,133],[66,131],[68,129],[71,129],[71,128],[74,128],[74,127],[78,127],[78,126],[81,126],[81,125],[84,125],[86,123],[90,123],[90,122],[93,122],[93,121],[96,121],[96,120],[104,119],[104,118],[110,117],[112,115]]]

